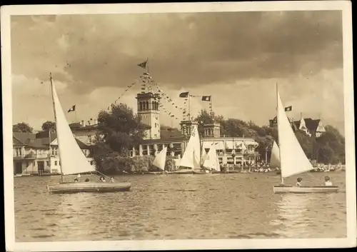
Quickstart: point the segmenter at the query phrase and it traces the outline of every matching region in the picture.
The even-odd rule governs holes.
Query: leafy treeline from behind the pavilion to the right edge
[[[201,110],[196,117],[198,121],[198,131],[202,134],[203,124],[212,124],[213,121],[221,124],[221,135],[232,137],[251,137],[258,142],[256,151],[261,159],[265,158],[266,149],[270,156],[270,148],[273,141],[278,142],[277,128],[269,126],[257,126],[252,121],[242,121],[239,119],[224,119],[223,116],[208,114]],[[306,156],[318,163],[345,163],[345,138],[333,126],[325,126],[326,132],[320,137],[306,135],[303,131],[296,131],[296,138],[301,144]]]

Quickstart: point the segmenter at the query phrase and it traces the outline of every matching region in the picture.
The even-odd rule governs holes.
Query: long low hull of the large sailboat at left
[[[47,186],[49,193],[108,193],[130,191],[131,183],[59,183]]]

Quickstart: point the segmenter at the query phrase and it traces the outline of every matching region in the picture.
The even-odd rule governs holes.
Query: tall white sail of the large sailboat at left
[[[73,136],[71,128],[66,120],[64,111],[59,102],[54,83],[51,79],[52,99],[54,101],[54,113],[56,118],[56,133],[59,144],[59,158],[61,161],[61,172],[64,175],[85,173],[95,171],[84,153],[79,148],[76,139]]]

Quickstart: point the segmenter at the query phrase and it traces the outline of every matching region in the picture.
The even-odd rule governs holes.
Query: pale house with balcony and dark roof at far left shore
[[[76,138],[79,147],[94,165],[92,147]],[[14,174],[59,173],[61,162],[56,133],[13,133]]]

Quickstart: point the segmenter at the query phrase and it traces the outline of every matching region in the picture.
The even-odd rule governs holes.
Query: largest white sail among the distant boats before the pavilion
[[[199,169],[201,161],[201,145],[198,136],[197,126],[193,126],[190,139],[188,140],[186,150],[180,161],[180,166]]]

